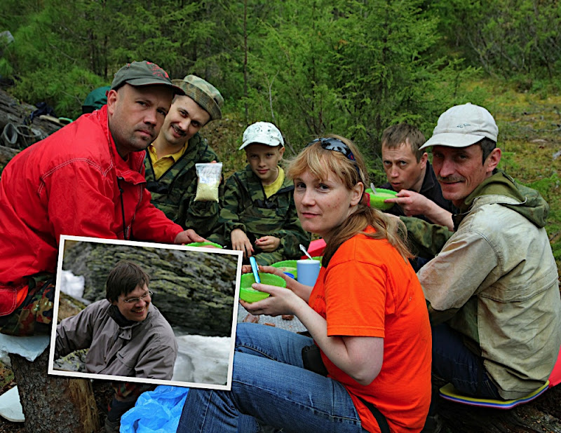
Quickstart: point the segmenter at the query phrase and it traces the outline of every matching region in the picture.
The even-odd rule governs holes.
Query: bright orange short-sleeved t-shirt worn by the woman
[[[370,385],[360,385],[321,352],[329,377],[349,392],[363,427],[380,431],[357,395],[384,414],[392,432],[419,432],[431,402],[431,327],[409,262],[387,240],[355,235],[321,268],[309,305],[326,319],[328,336],[384,338],[384,362]]]

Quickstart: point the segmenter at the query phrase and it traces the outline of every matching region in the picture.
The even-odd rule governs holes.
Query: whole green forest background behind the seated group
[[[196,74],[225,99],[204,128],[240,170],[241,134],[278,125],[287,156],[311,138],[353,139],[376,184],[381,132],[407,121],[430,137],[454,104],[499,125],[501,168],[539,189],[561,264],[561,2],[557,0],[3,0],[0,76],[21,101],[76,118],[126,62]]]

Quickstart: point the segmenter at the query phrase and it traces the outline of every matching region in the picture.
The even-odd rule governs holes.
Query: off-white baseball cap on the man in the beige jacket
[[[487,137],[496,143],[499,135],[493,116],[482,106],[452,106],[440,114],[433,136],[419,150],[429,146],[467,147]]]

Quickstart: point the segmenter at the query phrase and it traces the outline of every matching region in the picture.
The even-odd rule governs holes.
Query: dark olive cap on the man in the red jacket
[[[111,83],[111,90],[116,90],[125,83],[134,86],[161,84],[172,88],[173,92],[177,95],[184,95],[185,93],[171,82],[170,76],[168,76],[166,71],[161,69],[156,63],[147,62],[146,60],[127,63],[119,69],[113,78],[113,83]]]

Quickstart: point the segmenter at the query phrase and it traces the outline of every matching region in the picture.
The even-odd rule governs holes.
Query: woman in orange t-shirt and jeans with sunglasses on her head
[[[255,315],[296,315],[312,338],[238,324],[231,391],[189,390],[177,432],[421,431],[431,329],[399,221],[370,208],[363,159],[343,137],[313,140],[286,173],[302,227],[327,244],[318,280],[254,284],[271,296],[240,302]]]

